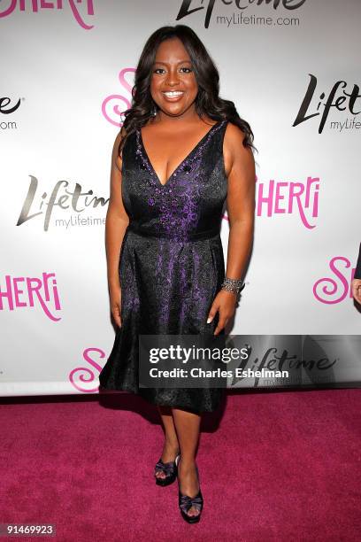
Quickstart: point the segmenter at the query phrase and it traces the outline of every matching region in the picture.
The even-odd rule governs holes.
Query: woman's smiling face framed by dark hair
[[[192,63],[180,39],[160,43],[150,82],[151,97],[160,110],[165,115],[178,117],[189,108],[195,109],[197,92]]]

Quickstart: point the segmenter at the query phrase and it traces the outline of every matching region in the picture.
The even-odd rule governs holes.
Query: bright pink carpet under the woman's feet
[[[359,540],[360,412],[359,390],[229,394],[220,419],[204,417],[204,513],[188,525],[177,484],[153,482],[153,406],[3,398],[0,523],[55,523],[43,539],[62,542]]]

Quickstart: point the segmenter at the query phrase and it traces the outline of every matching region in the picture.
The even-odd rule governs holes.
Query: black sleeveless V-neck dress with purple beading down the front
[[[213,334],[206,320],[225,277],[220,239],[227,176],[220,120],[165,185],[150,163],[141,131],[122,151],[122,198],[129,224],[120,248],[122,325],[99,375],[102,388],[131,391],[151,403],[196,413],[217,409],[221,388],[150,389],[138,385],[138,335]],[[224,334],[222,329],[221,334]]]

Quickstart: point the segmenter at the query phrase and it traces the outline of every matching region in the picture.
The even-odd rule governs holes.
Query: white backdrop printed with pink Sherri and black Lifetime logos
[[[111,148],[164,25],[196,31],[255,134],[232,333],[359,334],[360,17],[358,0],[1,1],[1,395],[97,392],[114,340]],[[227,213],[221,235],[226,258]]]

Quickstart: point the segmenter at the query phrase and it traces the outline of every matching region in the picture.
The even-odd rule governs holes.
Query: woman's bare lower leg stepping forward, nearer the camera
[[[173,421],[180,443],[180,462],[178,479],[180,492],[188,497],[196,497],[199,484],[196,476],[196,448],[199,440],[201,416],[191,412],[173,408]],[[195,507],[188,510],[188,515],[198,515]]]

